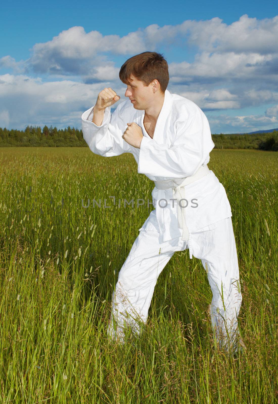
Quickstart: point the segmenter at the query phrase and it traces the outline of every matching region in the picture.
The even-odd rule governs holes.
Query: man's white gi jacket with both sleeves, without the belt
[[[82,131],[95,154],[111,157],[132,153],[138,164],[138,173],[145,174],[152,181],[185,178],[209,162],[209,153],[215,146],[209,122],[194,102],[181,95],[165,91],[153,139],[143,124],[145,111],[135,109],[129,99],[118,104],[112,114],[107,107],[101,126],[92,122],[94,107],[82,114]],[[143,139],[140,148],[129,145],[122,138],[127,122],[141,126]],[[186,224],[190,233],[213,229],[217,227],[217,221],[232,216],[225,188],[212,170],[185,185],[185,195],[188,204],[186,206],[183,201],[183,206],[186,206]],[[182,229],[178,227],[177,201],[170,200],[173,198],[172,188],[154,187],[152,198],[156,209],[151,211],[139,230],[158,231],[160,242],[180,237]]]

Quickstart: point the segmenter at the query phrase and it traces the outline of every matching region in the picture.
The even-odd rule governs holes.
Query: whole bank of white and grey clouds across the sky
[[[132,55],[156,50],[167,59],[163,50],[173,44],[180,47],[185,60],[168,61],[168,90],[191,99],[205,112],[274,104],[258,119],[255,115],[217,118],[224,126],[244,129],[250,125],[253,130],[252,125],[272,124],[277,119],[277,37],[278,16],[259,20],[243,15],[230,25],[218,17],[162,27],[152,24],[123,37],[102,35],[98,31],[86,33],[83,27],[71,27],[48,42],[35,44],[25,61],[17,62],[10,56],[0,59],[0,67],[15,73],[0,78],[0,117],[17,127],[20,120],[25,122],[21,126],[29,120],[39,122],[38,116],[40,122],[68,119],[76,124],[85,104],[86,109],[92,104],[90,97],[95,99],[104,87],[118,89],[121,97],[124,96],[115,57],[122,55],[124,63]],[[186,50],[190,46],[196,48],[196,55],[189,63]],[[53,81],[32,78],[41,74],[48,75],[48,80],[52,77]],[[23,114],[15,114],[13,105],[21,108]],[[211,119],[217,127],[217,119]],[[220,131],[223,132],[221,128]]]

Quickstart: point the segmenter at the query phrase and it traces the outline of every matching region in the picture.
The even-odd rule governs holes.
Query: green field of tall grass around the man
[[[215,349],[211,289],[188,250],[160,274],[141,338],[108,342],[118,272],[152,210],[118,207],[119,199],[152,199],[154,183],[137,174],[131,154],[3,147],[0,162],[3,403],[278,402],[276,152],[213,150],[208,164],[232,207],[237,358]]]

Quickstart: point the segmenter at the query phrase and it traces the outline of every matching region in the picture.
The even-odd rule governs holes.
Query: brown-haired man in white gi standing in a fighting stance
[[[143,52],[121,67],[128,100],[104,88],[82,114],[83,137],[93,153],[132,153],[138,173],[155,183],[156,209],[139,229],[112,294],[107,333],[124,342],[124,327],[139,332],[147,321],[157,278],[175,251],[202,260],[213,292],[211,324],[220,347],[238,348],[241,306],[232,212],[223,185],[209,170],[214,147],[209,122],[192,101],[167,89],[168,64]],[[140,325],[141,324],[141,325]]]

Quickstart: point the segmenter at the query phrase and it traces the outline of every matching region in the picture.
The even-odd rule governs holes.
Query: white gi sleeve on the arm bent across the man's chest
[[[138,173],[154,177],[184,178],[193,175],[203,163],[209,161],[209,152],[215,144],[211,138],[209,122],[199,107],[183,114],[182,119],[179,117],[172,130],[175,133],[170,146],[159,144],[150,137],[143,137]]]

